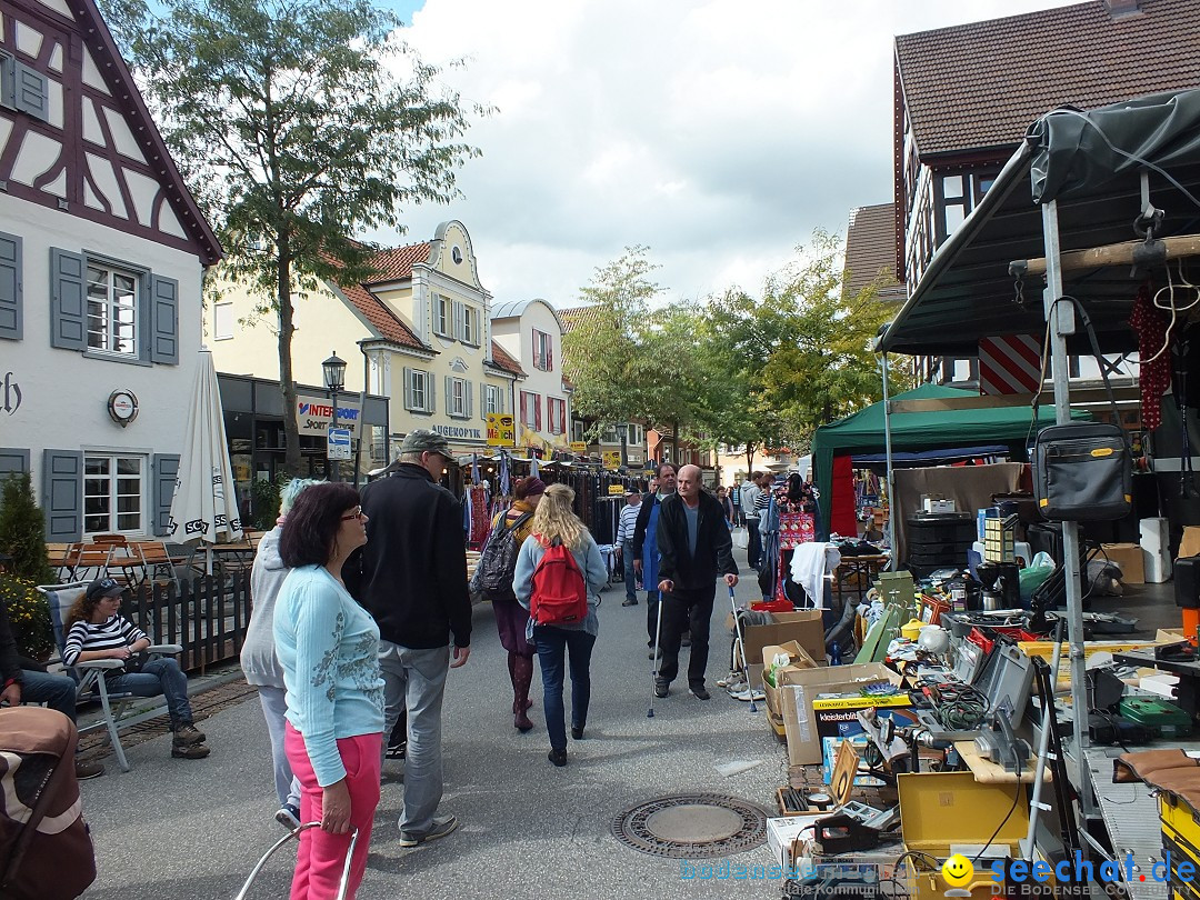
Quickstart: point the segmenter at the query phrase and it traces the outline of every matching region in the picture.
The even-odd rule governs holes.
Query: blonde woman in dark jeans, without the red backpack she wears
[[[548,758],[554,766],[566,764],[566,722],[563,708],[563,665],[571,670],[571,737],[583,739],[588,724],[588,703],[592,700],[592,648],[600,634],[596,606],[600,588],[608,580],[608,570],[587,526],[571,510],[575,491],[566,485],[551,485],[533,514],[533,534],[526,538],[517,554],[517,570],[512,590],[527,610],[533,596],[533,576],[538,563],[554,540],[562,541],[575,557],[588,592],[588,614],[580,623],[535,625],[529,619],[528,636],[538,646],[541,667],[542,713],[550,734]]]

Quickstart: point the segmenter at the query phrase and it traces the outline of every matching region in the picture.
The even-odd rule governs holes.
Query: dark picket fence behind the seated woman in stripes
[[[125,614],[154,643],[182,646],[179,665],[203,673],[209,666],[236,660],[251,612],[250,571],[222,577],[202,575],[174,582],[143,583]]]

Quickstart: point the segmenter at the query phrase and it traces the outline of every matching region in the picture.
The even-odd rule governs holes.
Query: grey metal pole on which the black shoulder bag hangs
[[[1055,421],[1070,421],[1070,384],[1067,368],[1067,335],[1075,334],[1075,307],[1070,302],[1055,302],[1062,296],[1062,266],[1058,259],[1058,204],[1050,200],[1042,206],[1042,230],[1045,241],[1046,287],[1043,293],[1046,323],[1050,326],[1050,359],[1054,373]],[[1087,686],[1084,660],[1084,604],[1079,593],[1079,524],[1062,523],[1063,570],[1067,575],[1067,637],[1070,643],[1072,731],[1074,733],[1075,767],[1080,812],[1080,830],[1096,815],[1092,799],[1091,772],[1085,758],[1087,749]]]

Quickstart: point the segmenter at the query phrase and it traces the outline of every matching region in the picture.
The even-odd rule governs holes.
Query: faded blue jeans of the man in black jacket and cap
[[[433,827],[442,803],[442,697],[450,671],[450,647],[413,649],[379,641],[383,673],[384,734],[408,713],[404,751],[404,806],[400,830],[424,834]]]

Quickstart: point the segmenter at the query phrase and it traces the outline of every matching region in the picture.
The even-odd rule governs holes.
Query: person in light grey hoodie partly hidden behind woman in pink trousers
[[[275,797],[280,802],[275,820],[286,828],[300,824],[300,782],[292,774],[292,763],[283,749],[288,704],[283,670],[275,655],[275,598],[288,577],[288,568],[280,556],[280,539],[283,536],[283,521],[300,492],[319,484],[313,479],[294,478],[280,492],[280,517],[275,528],[263,535],[254,553],[254,566],[250,572],[250,595],[254,599],[254,608],[241,646],[241,671],[246,674],[246,683],[258,689],[258,702],[271,736]]]

